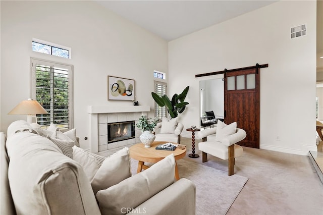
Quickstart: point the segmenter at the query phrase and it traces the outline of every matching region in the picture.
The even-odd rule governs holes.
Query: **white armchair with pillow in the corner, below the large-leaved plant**
[[[155,127],[155,141],[180,143],[183,128],[183,124],[178,122],[177,118],[171,120],[163,118],[163,121],[157,123]]]

